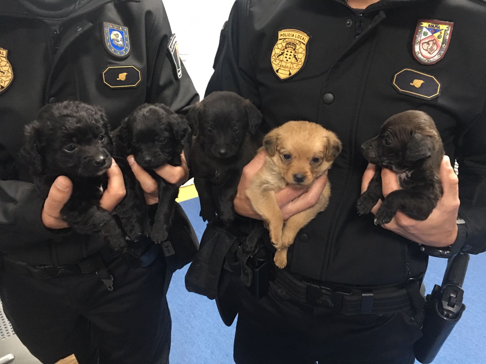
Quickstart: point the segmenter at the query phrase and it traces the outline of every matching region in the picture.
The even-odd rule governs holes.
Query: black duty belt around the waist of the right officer
[[[411,295],[417,295],[417,281],[398,287],[339,287],[321,281],[296,278],[292,273],[276,269],[275,284],[279,294],[288,294],[315,309],[330,309],[341,314],[393,314],[413,308]],[[411,291],[414,291],[413,293]],[[418,293],[419,294],[419,293]]]

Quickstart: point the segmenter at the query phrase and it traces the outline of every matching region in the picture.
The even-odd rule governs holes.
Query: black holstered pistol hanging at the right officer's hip
[[[450,258],[442,285],[436,284],[432,294],[427,295],[423,336],[414,347],[415,356],[420,363],[429,364],[434,361],[466,309],[462,303],[462,284],[468,263],[467,253],[459,253]]]

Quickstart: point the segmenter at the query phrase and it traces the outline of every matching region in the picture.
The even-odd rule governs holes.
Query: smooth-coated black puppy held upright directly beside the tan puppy
[[[224,223],[235,218],[233,199],[243,167],[255,156],[263,138],[260,111],[250,100],[215,91],[194,104],[187,115],[192,134],[191,168],[203,220],[215,212]]]

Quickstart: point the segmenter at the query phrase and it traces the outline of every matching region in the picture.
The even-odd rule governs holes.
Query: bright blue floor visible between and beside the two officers
[[[200,238],[206,223],[199,217],[199,199],[181,205]],[[430,259],[425,277],[428,293],[435,283],[442,282],[445,266],[443,259]],[[485,268],[486,253],[471,256],[463,287],[467,309],[434,363],[486,364]],[[174,274],[167,296],[173,322],[171,364],[234,363],[235,324],[231,327],[223,324],[214,300],[186,291],[186,271],[187,266]]]

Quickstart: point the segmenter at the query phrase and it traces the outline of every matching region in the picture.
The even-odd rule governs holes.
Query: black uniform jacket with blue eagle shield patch
[[[171,36],[161,0],[91,0],[66,18],[59,32],[17,0],[2,0],[0,70],[8,71],[6,58],[13,80],[4,88],[0,84],[0,145],[17,159],[24,125],[48,102],[100,105],[112,128],[144,102],[183,111],[198,95],[178,64],[174,44],[168,49]],[[94,237],[47,230],[41,221],[43,200],[24,182],[29,180],[25,171],[20,176],[23,181],[0,181],[2,253],[32,264],[62,265],[103,246]]]

